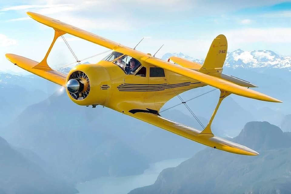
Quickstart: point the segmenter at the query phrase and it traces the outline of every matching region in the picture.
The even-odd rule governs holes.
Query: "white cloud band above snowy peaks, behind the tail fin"
[[[242,48],[246,50],[269,49],[284,55],[291,53],[289,50],[286,51],[286,47],[291,43],[291,28],[246,28],[230,30],[222,34],[227,38],[229,51]],[[142,42],[138,50],[154,53],[162,44],[165,44],[157,54],[158,57],[166,52],[182,52],[194,58],[205,58],[216,35],[211,32],[196,36],[194,39],[151,38]]]

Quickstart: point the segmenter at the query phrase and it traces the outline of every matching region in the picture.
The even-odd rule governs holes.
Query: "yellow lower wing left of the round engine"
[[[39,64],[38,62],[19,55],[6,54],[5,56],[9,61],[14,63],[14,65],[17,65],[22,69],[32,72],[35,75],[65,87],[67,76],[51,69],[49,66],[37,66]]]

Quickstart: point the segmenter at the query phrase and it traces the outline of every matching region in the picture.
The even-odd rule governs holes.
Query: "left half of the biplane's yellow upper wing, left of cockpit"
[[[106,47],[108,49],[113,49],[115,46],[125,47],[124,45],[120,45],[117,42],[113,42],[113,41],[111,41],[109,39],[106,39],[106,38],[103,38],[101,36],[95,35],[95,34],[93,34],[91,32],[82,30],[82,29],[77,28],[75,26],[66,24],[66,23],[61,22],[59,20],[44,16],[44,15],[40,15],[40,14],[37,14],[37,13],[33,13],[33,12],[27,12],[27,14],[31,18],[35,19],[36,21],[38,21],[38,22],[40,22],[40,23],[42,23],[44,25],[47,25],[49,27],[54,28],[56,31],[66,32],[68,34],[71,34],[71,35],[74,35],[76,37],[82,38],[84,40],[87,40],[87,41],[93,42],[95,44],[104,46],[104,47]]]

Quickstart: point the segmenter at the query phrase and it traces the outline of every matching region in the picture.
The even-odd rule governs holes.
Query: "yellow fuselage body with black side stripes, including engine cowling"
[[[108,61],[78,65],[69,75],[75,71],[84,72],[90,82],[89,95],[85,99],[76,100],[68,91],[67,94],[78,105],[103,105],[126,114],[134,107],[159,111],[177,94],[205,86],[201,82],[166,70],[165,77],[150,77],[149,69],[154,66],[144,63],[142,66],[146,67],[145,77],[126,75],[118,65]],[[69,76],[66,81],[68,79]]]

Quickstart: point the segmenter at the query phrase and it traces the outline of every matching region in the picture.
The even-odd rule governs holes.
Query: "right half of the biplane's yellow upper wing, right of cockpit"
[[[240,96],[245,96],[248,98],[253,98],[253,99],[258,99],[258,100],[264,100],[264,101],[269,101],[269,102],[282,102],[278,99],[275,99],[273,97],[270,97],[268,95],[262,94],[260,92],[244,88],[240,85],[236,85],[234,83],[231,83],[229,81],[211,76],[211,75],[206,75],[201,72],[197,72],[192,69],[188,69],[185,67],[182,67],[180,65],[175,65],[166,61],[163,61],[161,59],[157,58],[143,58],[143,60],[147,63],[150,63],[152,65],[156,65],[157,67],[166,69],[171,72],[175,72],[179,75],[183,75],[192,79],[195,79],[199,82],[202,82],[204,84],[213,86],[215,88],[221,89],[223,91],[240,95]]]

